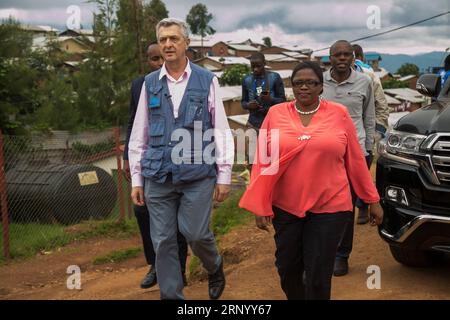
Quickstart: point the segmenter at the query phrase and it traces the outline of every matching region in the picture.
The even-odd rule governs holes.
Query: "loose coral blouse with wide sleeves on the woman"
[[[263,154],[272,161],[260,157],[265,151],[260,146],[267,146]],[[272,205],[298,217],[307,211],[352,211],[349,180],[364,202],[380,200],[347,108],[322,100],[305,127],[295,101],[286,102],[270,108],[262,124],[250,185],[239,206],[260,216],[273,216]]]

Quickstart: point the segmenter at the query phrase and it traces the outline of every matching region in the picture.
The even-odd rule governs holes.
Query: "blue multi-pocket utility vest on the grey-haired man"
[[[192,63],[190,66],[192,72],[181,100],[178,118],[173,114],[167,79],[163,77],[159,80],[160,71],[145,77],[149,139],[148,148],[141,160],[141,169],[142,176],[157,183],[164,183],[169,173],[172,174],[173,184],[216,176],[215,161],[205,162],[203,157],[205,148],[214,141],[212,135],[203,137],[206,130],[213,128],[208,109],[208,95],[214,75]],[[183,141],[183,138],[172,140],[172,133],[177,129],[188,133],[189,141]],[[179,143],[185,145],[186,142],[190,144],[190,148],[179,151]],[[177,148],[174,150],[177,152],[172,155],[174,148]],[[211,147],[208,148],[210,149]],[[211,154],[214,156],[214,152],[209,152],[209,155]],[[172,161],[173,159],[176,161]]]

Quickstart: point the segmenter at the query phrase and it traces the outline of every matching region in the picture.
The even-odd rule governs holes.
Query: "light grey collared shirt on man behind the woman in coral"
[[[356,127],[359,144],[367,155],[368,151],[372,151],[375,140],[372,80],[353,69],[350,77],[341,83],[331,77],[331,69],[324,73],[323,80],[322,96],[347,107]]]

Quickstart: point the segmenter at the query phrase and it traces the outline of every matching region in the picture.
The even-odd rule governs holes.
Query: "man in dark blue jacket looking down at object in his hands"
[[[264,54],[254,53],[250,66],[252,73],[242,82],[241,105],[250,112],[248,124],[259,129],[270,107],[286,101],[286,96],[280,75],[265,69]]]

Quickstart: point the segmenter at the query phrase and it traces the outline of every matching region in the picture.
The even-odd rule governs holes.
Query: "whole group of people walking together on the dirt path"
[[[184,299],[189,245],[208,272],[210,298],[218,299],[224,259],[209,222],[213,200],[230,192],[233,136],[217,77],[186,57],[186,23],[163,19],[156,34],[147,50],[149,73],[131,86],[124,152],[150,268],[141,287],[158,283],[161,299]],[[239,206],[255,214],[257,228],[273,226],[275,266],[288,299],[330,299],[333,274],[348,273],[355,208],[359,224],[383,219],[369,171],[389,116],[380,80],[362,48],[348,41],[331,46],[330,61],[326,72],[312,61],[294,68],[290,102],[262,53],[250,57],[252,72],[242,82],[241,105],[258,147]],[[262,161],[260,146],[274,139],[278,150],[268,152],[278,152],[276,160]],[[206,161],[211,143],[214,161]]]

